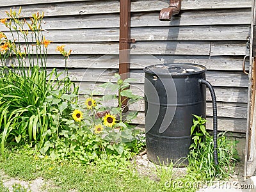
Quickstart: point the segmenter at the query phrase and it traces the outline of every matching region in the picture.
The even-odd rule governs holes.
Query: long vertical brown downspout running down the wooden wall
[[[119,74],[121,79],[127,79],[130,72],[131,42],[131,0],[120,0],[120,38],[119,38]],[[123,112],[128,111],[128,100],[122,97]]]

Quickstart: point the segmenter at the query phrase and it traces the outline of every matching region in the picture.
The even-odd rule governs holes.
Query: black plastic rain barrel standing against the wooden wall
[[[188,164],[193,114],[205,118],[206,68],[190,63],[151,65],[145,72],[147,156],[153,163]]]

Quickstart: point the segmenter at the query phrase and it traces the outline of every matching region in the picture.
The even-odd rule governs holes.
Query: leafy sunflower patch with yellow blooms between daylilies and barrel
[[[105,83],[101,86],[111,91],[117,88],[116,91],[122,93],[125,91],[122,88],[124,83],[129,86],[129,83],[120,82],[120,79],[116,81],[116,84]],[[134,154],[138,154],[145,147],[145,138],[140,129],[129,124],[136,114],[131,113],[132,115],[127,115],[125,120],[121,120],[121,107],[110,108],[100,103],[106,99],[106,95],[103,99],[95,100],[92,93],[84,95],[85,104],[71,102],[76,100],[76,95],[62,95],[61,97],[58,95],[52,93],[47,97],[47,102],[51,106],[51,114],[48,115],[51,118],[51,124],[44,132],[47,141],[40,149],[42,154],[63,161],[82,161],[83,163],[112,159],[116,164],[118,161],[124,162],[125,159],[131,159]],[[111,99],[119,100],[119,95],[114,96],[111,95]],[[129,97],[131,99],[140,99],[132,94],[128,96],[131,96]],[[83,118],[77,118],[75,111]],[[105,113],[105,115],[97,116],[99,113]],[[108,116],[113,118],[113,123],[106,123]],[[117,116],[120,117],[119,120],[116,119]]]

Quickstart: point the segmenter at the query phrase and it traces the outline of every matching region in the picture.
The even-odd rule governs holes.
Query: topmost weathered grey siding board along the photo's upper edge
[[[8,2],[8,3],[6,3]],[[28,1],[27,1],[28,2]],[[43,1],[45,2],[45,1]],[[12,4],[11,4],[12,3]],[[46,2],[45,2],[46,3]],[[153,12],[160,11],[161,9],[168,7],[170,4],[168,0],[136,0],[131,3],[132,12]],[[23,3],[27,4],[27,3]],[[225,9],[225,8],[250,8],[250,0],[229,0],[229,1],[210,1],[210,0],[195,0],[195,1],[182,1],[181,12],[186,10],[204,10],[204,9]],[[13,4],[13,1],[4,1],[1,3],[0,17],[6,17],[4,11],[9,10],[12,5],[15,10],[19,10],[20,3]],[[72,7],[72,8],[70,8]],[[105,0],[105,1],[75,1],[64,3],[51,3],[51,4],[40,4],[38,1],[30,1],[27,6],[23,6],[22,15],[29,17],[34,12],[45,12],[47,16],[60,16],[60,15],[88,15],[88,14],[99,14],[99,13],[118,13],[119,12],[119,1],[116,0]]]

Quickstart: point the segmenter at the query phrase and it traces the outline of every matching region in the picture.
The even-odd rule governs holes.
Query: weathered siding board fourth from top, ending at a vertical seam
[[[118,54],[118,42],[95,42],[95,43],[66,43],[65,49],[72,49],[72,54]],[[57,54],[56,47],[63,44],[51,44],[47,51],[49,54]],[[35,47],[33,47],[35,49]],[[237,48],[237,55],[241,52],[241,47]],[[208,55],[210,52],[210,42],[138,42],[131,44],[131,54],[166,54],[166,55]]]

